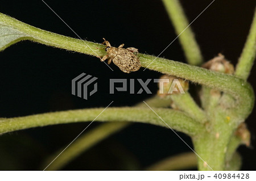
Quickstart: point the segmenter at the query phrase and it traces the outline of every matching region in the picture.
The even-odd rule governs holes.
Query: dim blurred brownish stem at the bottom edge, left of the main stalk
[[[195,153],[182,153],[172,157],[168,157],[147,167],[146,170],[186,170],[197,166],[197,158]]]

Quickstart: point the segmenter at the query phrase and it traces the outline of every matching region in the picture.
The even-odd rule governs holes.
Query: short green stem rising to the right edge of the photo
[[[247,37],[245,47],[243,47],[242,54],[239,58],[236,75],[242,79],[247,79],[250,75],[251,68],[253,66],[256,55],[256,9],[254,12],[253,22],[249,35]]]

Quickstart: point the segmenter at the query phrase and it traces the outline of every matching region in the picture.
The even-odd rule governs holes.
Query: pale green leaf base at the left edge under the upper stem
[[[25,33],[15,30],[13,27],[5,26],[0,22],[0,51],[23,40],[24,37],[27,37]]]

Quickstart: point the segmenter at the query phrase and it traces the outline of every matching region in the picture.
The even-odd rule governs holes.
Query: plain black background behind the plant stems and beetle
[[[174,28],[161,1],[46,1],[75,32],[89,41],[136,47],[158,56],[175,39]],[[181,1],[189,22],[211,1]],[[237,63],[245,43],[256,2],[215,1],[193,24],[205,60],[222,53]],[[44,30],[76,37],[42,1],[1,1],[0,12]],[[184,62],[176,40],[162,57]],[[151,95],[119,92],[109,95],[109,78],[158,78],[143,69],[125,74],[98,58],[22,41],[0,53],[0,117],[89,107],[132,106]],[[89,100],[71,94],[71,80],[81,73],[98,77],[98,92]],[[249,82],[256,86],[255,69]],[[150,84],[156,92],[157,85]],[[242,170],[256,169],[255,110],[246,120],[252,146],[241,146]],[[100,123],[93,123],[93,129]],[[0,170],[38,170],[48,155],[68,145],[88,123],[53,125],[3,134],[0,137]],[[192,146],[189,137],[179,133]],[[147,124],[131,127],[107,138],[72,161],[64,170],[141,170],[170,155],[190,151],[170,129]],[[129,159],[127,159],[129,158]],[[129,162],[127,163],[127,160]],[[134,165],[134,166],[131,166]]]

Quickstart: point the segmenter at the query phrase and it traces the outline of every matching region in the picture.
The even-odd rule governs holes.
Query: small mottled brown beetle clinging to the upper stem
[[[113,61],[114,64],[125,73],[137,71],[139,68],[141,68],[141,62],[139,62],[139,58],[136,56],[138,49],[133,47],[126,49],[122,48],[125,44],[119,45],[118,48],[111,47],[109,41],[106,41],[105,39],[102,44],[106,44],[105,51],[108,54],[102,57],[101,61],[108,59],[108,64]]]

